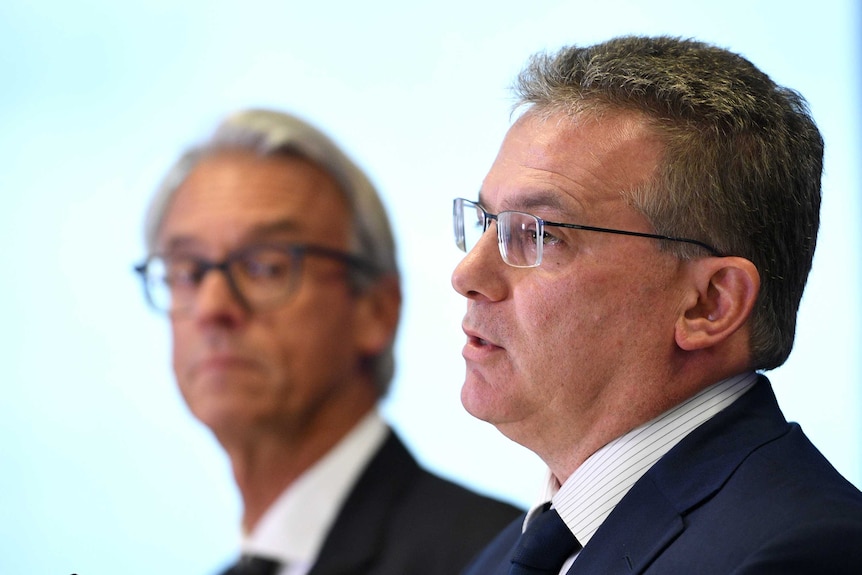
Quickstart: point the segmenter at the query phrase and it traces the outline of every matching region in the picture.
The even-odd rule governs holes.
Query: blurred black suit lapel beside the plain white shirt
[[[309,575],[365,573],[385,537],[386,517],[420,473],[395,434],[389,434],[345,500]]]

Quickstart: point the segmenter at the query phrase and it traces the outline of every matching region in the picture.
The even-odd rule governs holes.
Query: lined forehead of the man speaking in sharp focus
[[[655,176],[663,150],[639,114],[528,112],[506,134],[481,199],[494,211],[619,203],[623,192]]]

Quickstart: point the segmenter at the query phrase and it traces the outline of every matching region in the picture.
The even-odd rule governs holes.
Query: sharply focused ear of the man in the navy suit
[[[740,257],[693,260],[689,292],[677,319],[677,345],[693,351],[717,345],[736,333],[751,316],[760,292],[760,274]]]

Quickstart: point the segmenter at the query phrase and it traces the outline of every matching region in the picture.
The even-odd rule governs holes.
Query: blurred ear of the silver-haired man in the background
[[[356,346],[365,355],[377,355],[395,338],[401,316],[401,286],[395,276],[379,278],[357,296]]]

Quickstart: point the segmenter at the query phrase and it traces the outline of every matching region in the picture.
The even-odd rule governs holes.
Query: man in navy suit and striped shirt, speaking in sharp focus
[[[470,575],[859,573],[862,494],[782,415],[823,141],[696,41],[535,56],[478,201],[462,402],[548,465]]]

